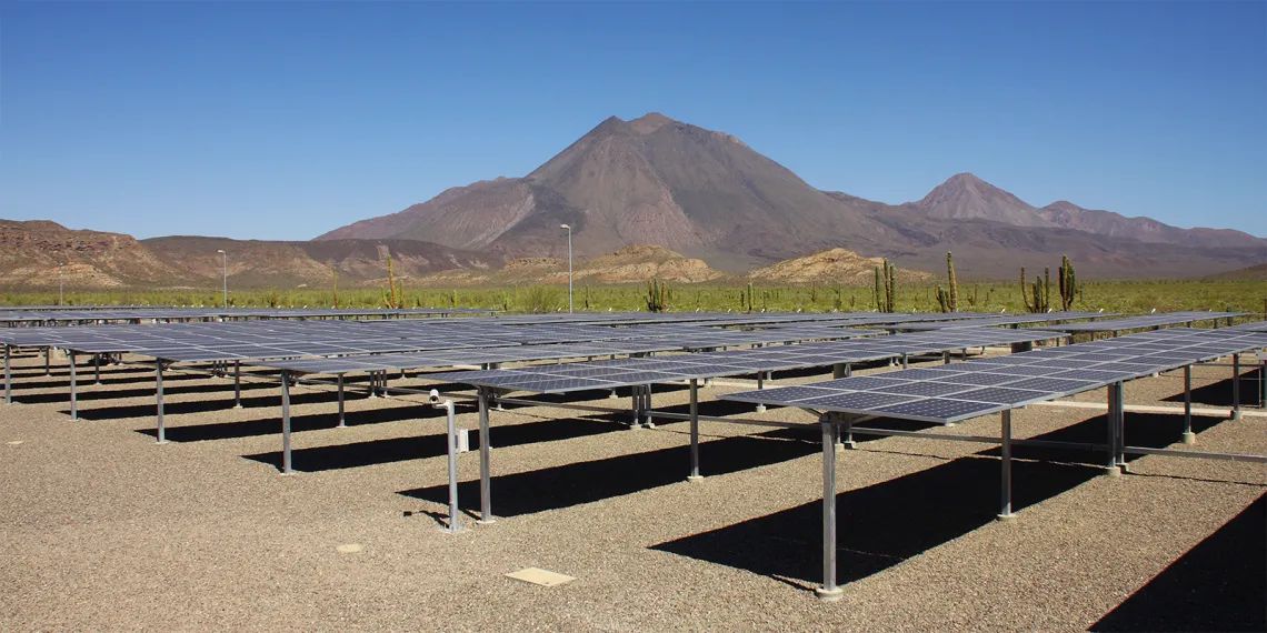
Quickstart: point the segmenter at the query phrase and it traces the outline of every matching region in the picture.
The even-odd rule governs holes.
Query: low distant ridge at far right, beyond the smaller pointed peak
[[[1169,224],[1162,224],[1152,218],[1126,218],[1112,211],[1083,209],[1066,200],[1052,203],[1039,209],[1038,214],[1055,227],[1085,230],[1098,235],[1138,239],[1140,242],[1182,244],[1197,248],[1267,248],[1267,241],[1239,230],[1181,229]]]

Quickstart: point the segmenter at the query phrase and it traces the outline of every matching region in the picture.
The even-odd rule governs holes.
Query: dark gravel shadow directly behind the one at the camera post
[[[280,429],[280,424],[276,424],[275,427],[274,432],[276,433]],[[174,429],[169,430],[169,437],[171,430]],[[493,446],[506,448],[512,446],[533,444],[537,442],[554,442],[560,439],[597,436],[601,433],[611,433],[613,430],[623,429],[612,424],[579,419],[550,419],[506,427],[493,427],[489,429],[489,433]],[[357,468],[361,466],[372,466],[375,463],[392,463],[407,460],[441,457],[447,454],[445,448],[446,438],[447,436],[441,433],[422,437],[356,442],[351,444],[296,448],[290,452],[291,467],[298,471],[315,472],[340,468]],[[479,433],[474,430],[470,433],[470,447],[471,451],[479,449]],[[281,470],[280,451],[246,454],[243,457],[267,463],[277,470]]]

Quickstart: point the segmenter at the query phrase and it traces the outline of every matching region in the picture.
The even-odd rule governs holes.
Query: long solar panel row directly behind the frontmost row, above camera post
[[[1033,329],[1002,330],[981,328],[979,330],[957,330],[954,334],[921,332],[856,341],[706,352],[672,358],[625,358],[517,370],[460,371],[432,373],[427,377],[464,385],[551,394],[824,367],[836,363],[945,352],[964,347],[1033,342],[1062,337],[1063,334]]]

